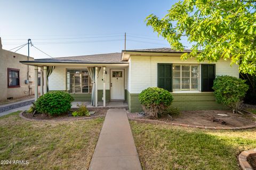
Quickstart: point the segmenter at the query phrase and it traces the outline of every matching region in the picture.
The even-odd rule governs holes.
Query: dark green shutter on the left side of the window
[[[157,87],[172,91],[172,64],[157,64]]]

